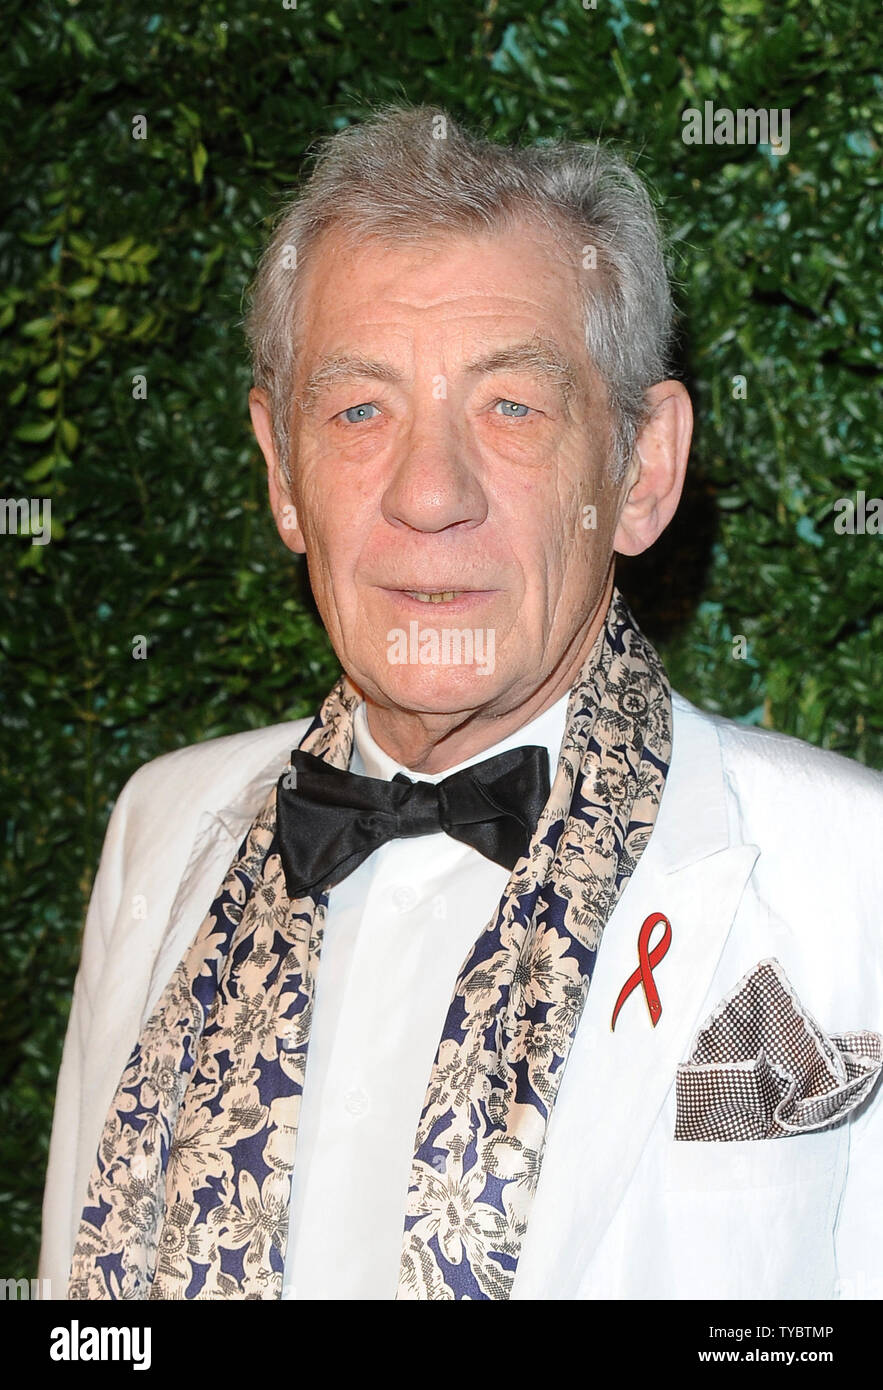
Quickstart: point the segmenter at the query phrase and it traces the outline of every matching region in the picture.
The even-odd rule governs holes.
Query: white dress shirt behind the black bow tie
[[[523,744],[555,777],[569,692],[444,773],[396,763],[355,716],[350,771],[444,777]],[[444,831],[392,840],[331,890],[298,1126],[284,1298],[395,1298],[417,1123],[453,986],[509,870]]]

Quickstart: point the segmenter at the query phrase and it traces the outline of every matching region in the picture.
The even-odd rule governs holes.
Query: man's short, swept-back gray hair
[[[327,231],[353,242],[417,242],[439,232],[498,231],[531,218],[574,234],[585,277],[585,346],[608,391],[610,460],[620,480],[648,418],[648,386],[665,379],[673,306],[662,235],[641,178],[599,143],[498,145],[435,107],[387,107],[318,149],[282,208],[249,292],[245,320],[254,384],[270,402],[286,481],[296,363],[298,281]],[[594,253],[594,257],[592,257]]]

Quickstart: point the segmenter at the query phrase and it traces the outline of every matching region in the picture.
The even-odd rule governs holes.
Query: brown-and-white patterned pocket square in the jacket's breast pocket
[[[823,1033],[777,960],[761,960],[677,1068],[676,1140],[779,1138],[827,1129],[870,1094],[879,1033]]]

